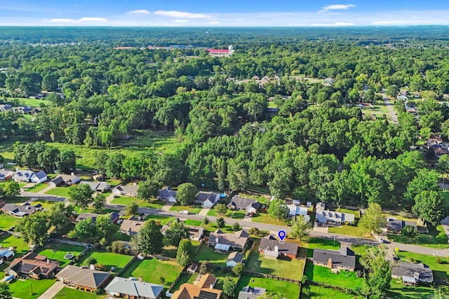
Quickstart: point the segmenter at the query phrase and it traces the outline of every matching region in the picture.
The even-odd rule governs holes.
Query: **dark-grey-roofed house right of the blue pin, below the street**
[[[354,271],[356,256],[347,246],[339,250],[314,249],[314,265],[328,267],[330,270]]]

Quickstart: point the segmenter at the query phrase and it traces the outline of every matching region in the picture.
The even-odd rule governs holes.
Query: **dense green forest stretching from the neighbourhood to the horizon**
[[[18,38],[20,30],[25,29],[0,34],[0,101],[45,90],[51,105],[34,118],[1,112],[4,141],[107,150],[145,131],[174,132],[183,146],[173,155],[152,148],[138,157],[105,151],[97,169],[170,186],[186,181],[218,190],[262,186],[276,197],[338,206],[378,202],[411,209],[417,198],[426,200],[425,192],[438,189],[437,172],[424,168],[422,153],[410,146],[432,133],[449,134],[448,106],[438,102],[449,92],[449,49],[439,27],[427,35],[431,47],[420,34],[429,29],[415,27],[395,34],[392,29],[213,29],[207,39],[204,29],[189,29],[189,39],[187,29],[62,28],[35,36],[27,30]],[[325,41],[331,36],[337,38]],[[144,47],[210,46],[217,38],[233,44],[234,55]],[[391,41],[393,46],[382,45]],[[138,48],[112,48],[117,44]],[[324,78],[333,83],[323,84]],[[406,113],[402,102],[396,105],[398,124],[367,121],[354,106],[382,101],[382,90],[396,99],[403,88],[420,92],[418,118]],[[42,144],[16,144],[16,162],[43,167],[36,161],[39,148],[46,150]],[[427,197],[432,196],[438,198],[429,200],[441,202],[441,194]]]

